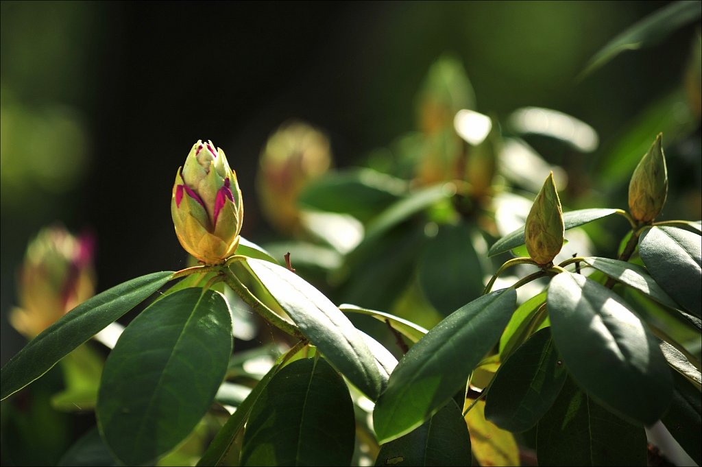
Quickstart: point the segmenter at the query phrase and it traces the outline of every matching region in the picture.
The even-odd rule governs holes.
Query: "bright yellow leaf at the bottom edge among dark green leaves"
[[[475,402],[466,399],[463,411]],[[519,466],[519,447],[514,435],[485,419],[485,401],[479,400],[465,414],[470,447],[481,466]]]

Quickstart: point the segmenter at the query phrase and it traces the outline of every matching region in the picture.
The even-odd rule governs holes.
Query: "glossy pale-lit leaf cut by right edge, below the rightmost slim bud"
[[[656,282],[682,307],[702,317],[702,239],[675,227],[654,227],[639,237],[639,255]]]

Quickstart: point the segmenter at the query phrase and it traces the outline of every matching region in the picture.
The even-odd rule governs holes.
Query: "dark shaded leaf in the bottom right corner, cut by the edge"
[[[673,438],[689,454],[697,465],[701,464],[700,424],[702,423],[702,403],[700,391],[680,374],[674,374],[675,390],[673,402],[661,421]]]

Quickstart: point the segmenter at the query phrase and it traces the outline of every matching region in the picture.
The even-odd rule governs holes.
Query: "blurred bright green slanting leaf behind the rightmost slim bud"
[[[649,147],[651,138],[663,133],[668,145],[673,145],[697,126],[697,119],[682,88],[666,94],[652,103],[634,119],[622,136],[611,145],[598,162],[597,173],[612,185],[625,183],[631,177]]]

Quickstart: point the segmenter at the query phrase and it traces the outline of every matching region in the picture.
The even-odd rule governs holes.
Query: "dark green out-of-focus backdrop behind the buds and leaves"
[[[684,90],[689,70],[699,73],[690,59],[699,21],[580,77],[613,37],[668,4],[3,1],[1,364],[26,342],[7,314],[40,228],[91,232],[97,291],[185,267],[171,188],[193,143],[211,139],[237,171],[242,235],[274,237],[256,192],[272,133],[307,121],[329,138],[336,168],[382,166],[378,148],[417,128],[418,92],[447,53],[465,68],[478,112],[506,119],[546,107],[594,129],[599,143],[580,152],[529,141],[567,173],[565,205],[625,208],[630,167],[617,171],[616,151],[634,138],[637,160],[658,131],[681,133],[675,147],[664,133],[673,192],[664,215],[697,220],[698,81]]]

